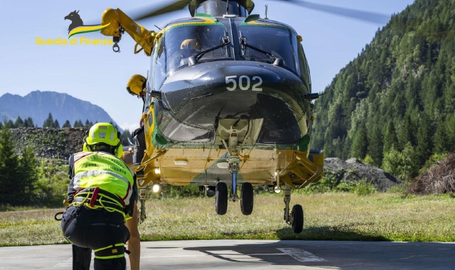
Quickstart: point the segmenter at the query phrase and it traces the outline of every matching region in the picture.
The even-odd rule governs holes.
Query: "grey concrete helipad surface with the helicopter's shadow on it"
[[[0,269],[71,269],[71,246],[0,247]],[[455,243],[141,242],[141,269],[455,269]]]

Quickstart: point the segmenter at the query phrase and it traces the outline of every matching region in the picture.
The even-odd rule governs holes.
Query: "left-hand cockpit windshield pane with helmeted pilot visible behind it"
[[[188,65],[192,55],[223,44],[222,37],[226,36],[224,26],[180,26],[174,27],[161,37],[156,55],[156,72],[159,77],[166,77],[169,72],[183,65]],[[225,58],[227,48],[219,48],[204,53],[199,62]]]

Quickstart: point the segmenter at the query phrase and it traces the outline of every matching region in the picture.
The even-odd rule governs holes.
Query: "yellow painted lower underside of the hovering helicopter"
[[[254,148],[237,154],[242,159],[238,183],[272,185],[277,182],[275,172],[278,171],[281,183],[287,183],[292,188],[303,188],[323,176],[322,153],[312,155],[314,163],[309,161],[307,152],[295,150]],[[135,171],[144,168],[144,178],[138,178],[140,186],[151,182],[170,185],[216,185],[219,180],[230,181],[229,169],[217,166],[217,163],[225,161],[226,157],[225,149],[155,149],[150,156],[144,156],[142,166],[135,168]]]

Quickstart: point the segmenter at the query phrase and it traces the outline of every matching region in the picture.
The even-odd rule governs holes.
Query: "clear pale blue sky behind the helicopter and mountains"
[[[134,42],[125,35],[119,43],[121,53],[112,45],[36,45],[36,38],[68,37],[70,21],[64,17],[79,10],[85,23],[101,21],[107,8],[137,11],[171,1],[34,1],[16,0],[2,4],[0,46],[0,96],[9,92],[27,95],[33,90],[63,92],[97,104],[124,129],[134,129],[141,115],[141,100],[126,91],[134,74],[146,76],[150,58],[134,55]],[[312,3],[371,11],[390,16],[399,13],[414,0],[309,0]],[[284,1],[255,1],[255,11],[294,27],[302,36],[309,60],[313,92],[322,92],[335,75],[372,41],[385,23],[366,23],[343,16],[305,9]],[[188,17],[188,9],[140,21],[149,30],[166,22]],[[75,36],[108,38],[100,33]],[[317,108],[316,108],[317,109]]]

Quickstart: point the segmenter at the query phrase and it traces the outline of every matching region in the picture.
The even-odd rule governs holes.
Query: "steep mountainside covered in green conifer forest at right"
[[[378,29],[316,101],[311,147],[377,166],[453,150],[454,10],[453,0],[416,0]]]

